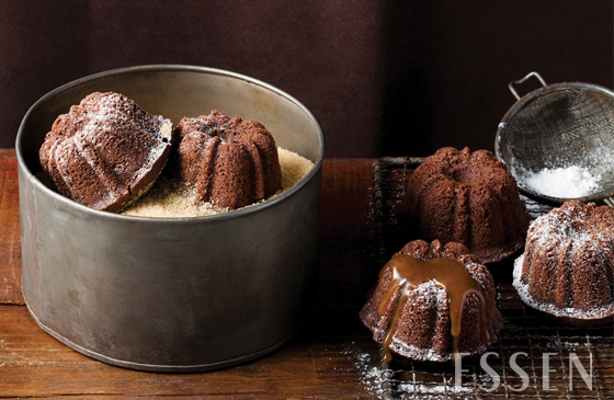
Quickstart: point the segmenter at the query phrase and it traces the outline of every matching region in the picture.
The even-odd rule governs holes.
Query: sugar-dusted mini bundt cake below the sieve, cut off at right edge
[[[535,219],[513,285],[527,306],[561,322],[612,321],[614,208],[569,201]]]

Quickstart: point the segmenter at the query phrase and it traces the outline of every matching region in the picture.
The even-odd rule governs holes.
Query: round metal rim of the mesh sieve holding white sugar
[[[508,167],[508,169],[510,169],[511,165],[509,165],[507,163],[507,160],[502,157],[502,153],[501,153],[501,137],[504,135],[505,127],[508,125],[508,121],[510,121],[526,103],[528,103],[533,99],[538,98],[538,96],[544,95],[544,94],[549,93],[549,92],[554,92],[554,91],[558,91],[558,90],[566,90],[566,89],[581,89],[581,90],[584,90],[584,91],[590,90],[590,91],[594,91],[594,92],[600,92],[600,93],[603,93],[603,94],[607,95],[609,98],[613,99],[613,101],[614,101],[614,91],[612,91],[607,88],[598,85],[598,84],[584,83],[584,82],[561,82],[561,83],[548,84],[548,85],[538,88],[538,89],[523,95],[510,107],[510,110],[508,110],[505,115],[503,115],[503,118],[501,119],[501,122],[497,126],[497,134],[494,136],[494,153],[497,155],[497,158]],[[541,193],[536,193],[535,191],[532,191],[532,190],[521,185],[520,181],[516,180],[516,182],[519,184],[520,191],[523,194],[527,195],[531,198],[534,198],[534,199],[537,199],[537,201],[544,201],[544,202],[549,203],[549,204],[562,204],[566,201],[570,201],[570,199],[576,199],[576,201],[583,202],[583,203],[601,202],[606,197],[614,196],[614,185],[612,185],[611,187],[609,187],[604,191],[594,193],[590,196],[565,198],[565,197],[553,197],[553,196],[544,195],[544,194],[541,194]]]

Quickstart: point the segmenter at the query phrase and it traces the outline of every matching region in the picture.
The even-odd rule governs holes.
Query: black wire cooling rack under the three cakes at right
[[[402,199],[407,179],[422,161],[416,157],[380,158],[373,165],[379,265],[408,241],[401,220]],[[526,197],[523,201],[533,218],[552,208]],[[614,325],[577,328],[545,319],[518,297],[511,285],[511,260],[491,265],[490,271],[504,325],[484,363],[481,358],[463,359],[461,382],[452,363],[382,363],[383,397],[614,399]]]

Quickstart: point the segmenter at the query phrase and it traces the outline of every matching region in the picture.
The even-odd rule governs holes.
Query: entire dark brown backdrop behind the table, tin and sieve
[[[511,80],[613,87],[613,19],[612,0],[0,0],[0,147],[62,83],[187,64],[296,96],[329,157],[492,149]]]

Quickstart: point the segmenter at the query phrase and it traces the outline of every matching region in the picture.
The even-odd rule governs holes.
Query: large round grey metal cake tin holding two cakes
[[[171,118],[213,108],[259,121],[315,165],[295,186],[224,215],[143,218],[99,212],[48,188],[38,148],[55,118],[115,91]],[[323,136],[296,99],[218,69],[156,65],[67,83],[27,112],[16,138],[23,295],[71,348],[141,370],[197,372],[268,354],[315,307]]]

